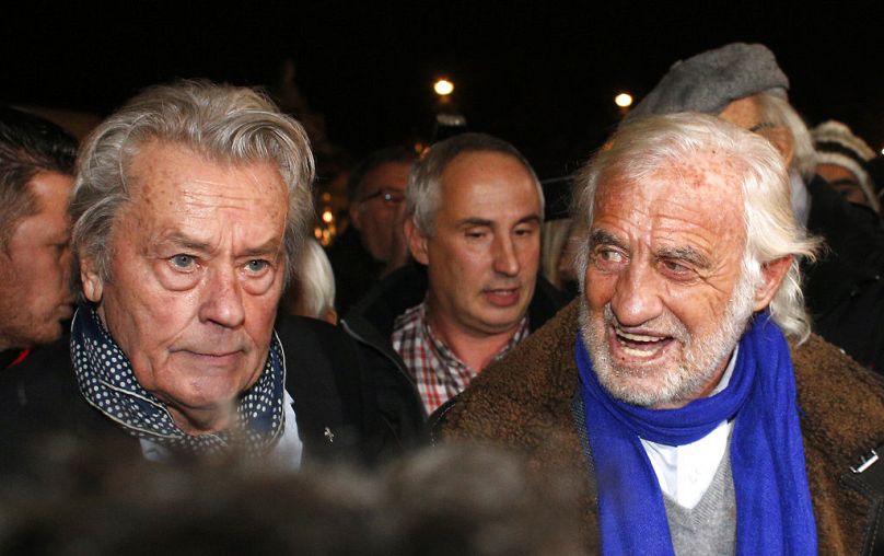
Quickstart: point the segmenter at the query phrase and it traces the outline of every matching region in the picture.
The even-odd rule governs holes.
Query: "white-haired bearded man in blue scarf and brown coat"
[[[617,131],[577,179],[581,299],[486,370],[446,439],[571,473],[591,553],[860,554],[884,387],[811,334],[782,158],[699,114]]]

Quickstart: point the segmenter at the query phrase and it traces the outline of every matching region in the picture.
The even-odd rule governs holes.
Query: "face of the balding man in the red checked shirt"
[[[428,265],[430,321],[474,337],[514,332],[534,296],[543,211],[522,163],[497,152],[456,157],[442,173],[432,236],[409,238]]]

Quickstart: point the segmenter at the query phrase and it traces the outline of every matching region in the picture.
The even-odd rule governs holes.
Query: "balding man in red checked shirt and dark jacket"
[[[512,144],[473,132],[435,143],[406,201],[420,266],[384,279],[345,323],[415,382],[431,414],[562,302],[538,277],[543,189]]]

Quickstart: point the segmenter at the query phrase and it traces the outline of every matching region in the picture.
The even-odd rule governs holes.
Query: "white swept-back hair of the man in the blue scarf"
[[[770,314],[783,333],[804,341],[811,320],[804,309],[800,264],[814,259],[821,241],[809,236],[794,217],[782,155],[761,137],[719,118],[694,113],[651,116],[623,126],[586,164],[575,182],[577,218],[592,227],[596,190],[614,177],[641,183],[665,164],[716,153],[740,176],[746,246],[743,271],[760,278],[765,264],[791,255],[791,267],[770,302]],[[575,263],[585,287],[588,242]]]

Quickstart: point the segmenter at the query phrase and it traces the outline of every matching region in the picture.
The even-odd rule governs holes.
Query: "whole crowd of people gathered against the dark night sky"
[[[884,549],[881,158],[788,91],[679,60],[556,187],[381,149],[327,250],[252,89],[4,107],[0,554]]]

